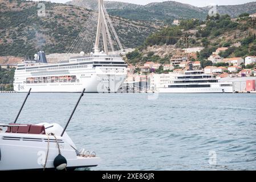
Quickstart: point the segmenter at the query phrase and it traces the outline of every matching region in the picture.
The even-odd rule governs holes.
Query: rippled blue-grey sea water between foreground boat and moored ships
[[[0,123],[14,121],[25,96],[0,94]],[[67,132],[102,158],[92,170],[256,169],[255,94],[149,96],[85,94]],[[18,122],[64,126],[78,98],[31,93]]]

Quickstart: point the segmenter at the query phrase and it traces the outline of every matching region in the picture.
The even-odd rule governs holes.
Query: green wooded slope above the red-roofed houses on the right
[[[220,56],[246,57],[256,55],[256,20],[249,18],[249,14],[232,20],[229,15],[208,16],[205,21],[189,19],[182,20],[180,26],[169,26],[150,35],[144,46],[127,55],[129,63],[144,64],[146,61],[168,63],[173,52],[164,57],[157,56],[157,52],[147,52],[152,46],[172,46],[174,49],[187,47],[204,47],[197,53],[197,60],[203,65],[210,65],[207,60],[218,47],[228,47]],[[234,46],[235,43],[241,46]],[[159,48],[160,49],[160,48]],[[167,61],[166,61],[167,60]]]

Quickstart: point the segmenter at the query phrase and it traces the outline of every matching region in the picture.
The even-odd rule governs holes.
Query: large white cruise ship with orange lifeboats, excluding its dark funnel
[[[119,55],[71,57],[68,63],[19,64],[14,76],[16,92],[117,92],[127,76]]]

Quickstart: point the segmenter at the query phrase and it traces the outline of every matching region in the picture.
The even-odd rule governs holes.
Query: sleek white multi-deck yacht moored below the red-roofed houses
[[[158,93],[233,93],[232,82],[218,82],[203,71],[153,75],[151,89]]]

